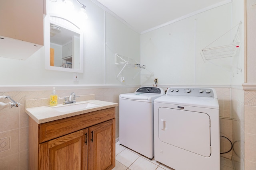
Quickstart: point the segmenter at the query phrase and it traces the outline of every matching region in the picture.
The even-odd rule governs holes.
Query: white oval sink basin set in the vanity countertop
[[[80,109],[87,109],[90,107],[96,107],[100,106],[98,104],[93,104],[93,103],[81,103],[81,104],[66,104],[63,106],[55,106],[51,107],[52,109],[60,112],[65,112],[65,111],[75,111],[75,110],[80,110]]]

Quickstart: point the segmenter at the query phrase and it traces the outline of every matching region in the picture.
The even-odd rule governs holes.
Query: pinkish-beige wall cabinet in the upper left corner
[[[1,0],[0,57],[26,60],[44,45],[46,0]]]

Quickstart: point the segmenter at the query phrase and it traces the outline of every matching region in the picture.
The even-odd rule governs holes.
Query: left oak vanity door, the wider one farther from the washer
[[[87,170],[88,129],[39,145],[39,170]]]

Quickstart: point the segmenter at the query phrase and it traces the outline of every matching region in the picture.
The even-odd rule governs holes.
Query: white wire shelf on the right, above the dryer
[[[231,44],[223,45],[223,46],[219,46],[219,47],[208,48],[209,45],[211,45],[212,43],[214,43],[215,41],[220,39],[220,37],[219,37],[218,39],[216,39],[215,41],[213,41],[212,43],[210,43],[204,49],[201,50],[201,56],[202,56],[202,59],[204,60],[204,62],[206,60],[221,59],[221,58],[225,58],[225,57],[233,57],[236,54],[236,51],[240,45],[240,25],[241,25],[241,22],[235,26],[235,27],[238,26],[238,28],[236,31],[236,35],[234,36],[234,39]],[[232,29],[234,29],[235,27],[233,27]],[[225,34],[232,31],[232,29],[230,29]],[[222,36],[224,36],[224,35],[222,35]]]

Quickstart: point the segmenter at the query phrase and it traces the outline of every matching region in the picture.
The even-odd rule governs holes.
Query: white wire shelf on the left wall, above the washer
[[[116,57],[116,62],[115,64],[116,65],[121,65],[122,64],[122,69],[120,70],[120,72],[118,73],[118,75],[116,76],[116,78],[118,78],[118,76],[121,74],[121,72],[124,70],[124,68],[126,66],[132,66],[132,67],[137,67],[137,68],[142,68],[142,69],[145,69],[146,66],[141,66],[140,63],[138,63],[138,61],[134,60],[134,59],[131,59],[129,57],[125,57],[125,56],[122,56],[122,55],[119,55],[119,54],[115,54],[115,57]],[[137,74],[136,74],[137,75]],[[135,77],[135,76],[134,76]]]

